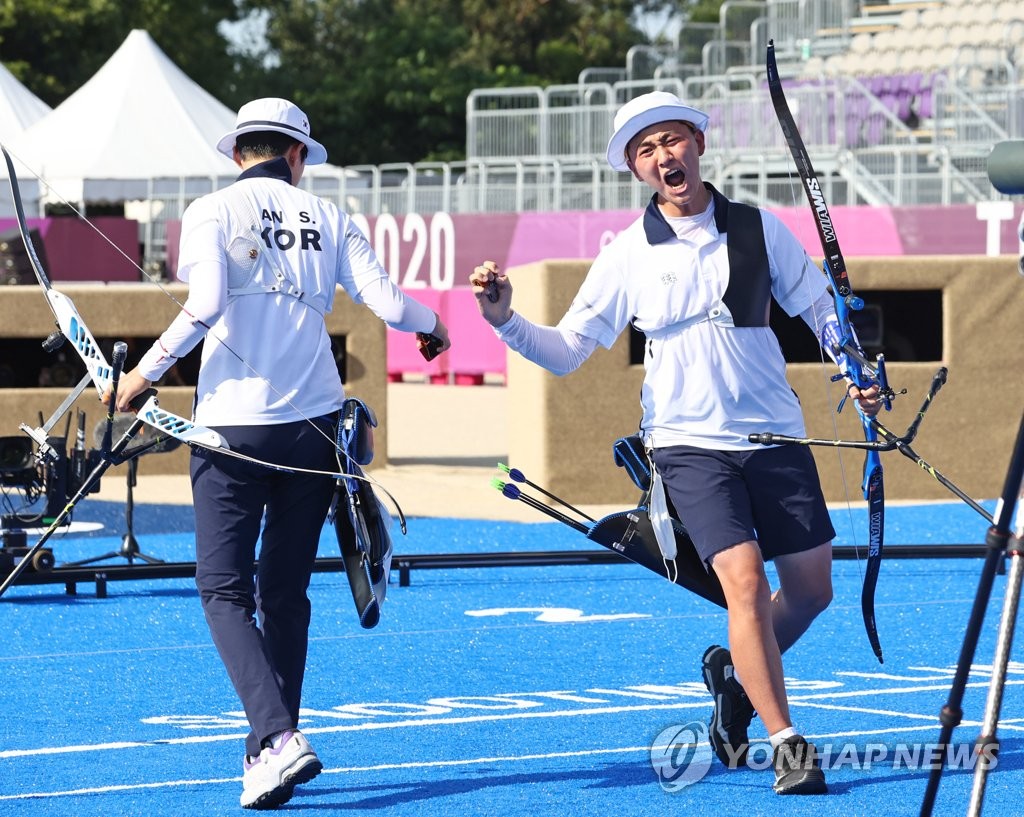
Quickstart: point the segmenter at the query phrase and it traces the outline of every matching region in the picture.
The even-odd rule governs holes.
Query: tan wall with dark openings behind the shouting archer
[[[1024,280],[1017,274],[1017,258],[904,256],[858,258],[848,265],[861,295],[882,289],[942,290],[942,360],[890,363],[892,386],[906,388],[908,394],[881,420],[902,434],[936,370],[948,367],[947,385],[929,408],[913,447],[970,496],[999,496],[1024,410]],[[556,324],[588,266],[556,260],[511,269],[514,307],[534,320]],[[568,502],[637,499],[637,489],[611,459],[612,442],[636,431],[640,420],[643,370],[629,363],[627,336],[610,350],[598,349],[564,378],[509,355],[509,462]],[[817,362],[788,368],[808,434],[863,439],[856,412],[847,408],[835,416],[843,394],[841,384],[828,382],[835,372],[834,365],[822,369]],[[859,500],[863,453],[843,450],[841,464],[836,448],[812,450],[826,498]],[[887,499],[953,499],[901,454],[883,457]]]

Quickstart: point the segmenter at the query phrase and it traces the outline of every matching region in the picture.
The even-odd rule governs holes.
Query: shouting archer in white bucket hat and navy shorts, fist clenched
[[[512,311],[512,286],[490,261],[470,275],[483,317],[524,357],[561,375],[629,322],[644,333],[641,432],[678,518],[728,602],[730,649],[703,654],[714,697],[711,744],[744,765],[755,712],[773,747],[780,794],[827,791],[813,745],[794,727],[781,653],[831,601],[835,535],[806,446],[763,447],[764,429],[804,436],[800,402],[768,328],[770,299],[820,340],[837,317],[825,276],[771,213],[730,202],[700,179],[708,115],[670,93],[627,102],[607,159],[653,196],[594,261],[557,327]],[[486,295],[496,286],[498,299]],[[878,387],[849,386],[868,416]],[[772,593],[764,562],[774,560]]]

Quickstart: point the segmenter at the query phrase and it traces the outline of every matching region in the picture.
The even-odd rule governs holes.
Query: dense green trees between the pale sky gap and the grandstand
[[[660,6],[662,2],[645,5]],[[272,89],[306,111],[338,164],[465,155],[474,88],[575,82],[623,66],[635,0],[245,0],[266,14],[252,54]]]

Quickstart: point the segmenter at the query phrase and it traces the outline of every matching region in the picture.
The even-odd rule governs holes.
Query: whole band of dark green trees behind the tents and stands
[[[636,13],[720,0],[0,0],[0,59],[56,105],[144,28],[226,105],[285,96],[336,164],[462,158],[474,88],[622,68]],[[717,13],[717,12],[716,12]],[[255,36],[231,39],[223,23]],[[236,29],[237,31],[237,29]]]

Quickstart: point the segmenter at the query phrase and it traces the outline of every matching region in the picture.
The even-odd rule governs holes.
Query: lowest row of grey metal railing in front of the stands
[[[812,106],[813,107],[813,106]],[[794,206],[793,166],[775,128],[756,131],[753,144],[709,147],[703,177],[727,197],[761,206]],[[818,123],[808,134],[827,133]],[[965,204],[998,197],[986,174],[991,143],[902,144],[856,148],[813,140],[814,166],[835,205]],[[319,177],[312,189],[350,213],[428,215],[436,212],[509,213],[637,210],[647,189],[628,173],[612,171],[602,156],[532,157],[451,163],[352,167]],[[146,262],[166,260],[166,226],[180,218],[189,197],[154,193],[152,217],[142,221]]]

